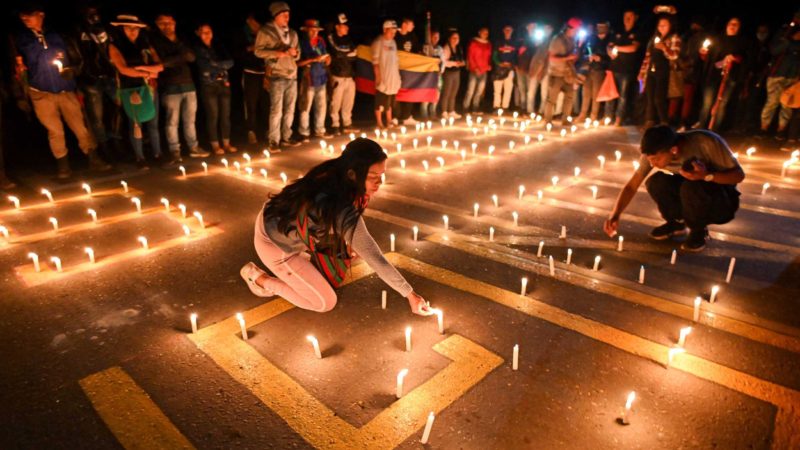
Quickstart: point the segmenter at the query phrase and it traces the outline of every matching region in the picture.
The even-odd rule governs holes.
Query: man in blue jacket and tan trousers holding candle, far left
[[[69,178],[72,174],[62,120],[75,133],[81,151],[89,157],[89,167],[92,170],[111,169],[97,155],[97,143],[86,128],[83,109],[75,93],[80,53],[74,45],[68,45],[63,36],[45,29],[44,17],[44,10],[38,5],[28,6],[19,13],[25,29],[14,42],[15,80],[27,80],[27,85],[15,91],[30,99],[36,117],[47,128],[50,150],[58,163],[58,178]],[[30,108],[23,99],[18,104]]]

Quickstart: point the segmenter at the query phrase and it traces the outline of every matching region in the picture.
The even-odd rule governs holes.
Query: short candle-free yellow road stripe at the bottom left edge
[[[79,383],[122,447],[129,450],[194,448],[121,368],[106,369]]]

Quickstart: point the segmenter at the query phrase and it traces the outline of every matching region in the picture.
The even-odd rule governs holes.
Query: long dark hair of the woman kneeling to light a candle
[[[309,234],[322,239],[333,234],[337,251],[345,236],[355,229],[366,208],[365,182],[370,166],[386,160],[377,142],[358,138],[347,144],[342,155],[325,161],[271,194],[264,208],[264,221],[277,219],[278,230],[288,235],[297,229],[297,216],[305,211],[315,222]]]

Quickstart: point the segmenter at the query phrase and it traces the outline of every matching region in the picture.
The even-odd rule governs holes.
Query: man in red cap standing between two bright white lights
[[[561,33],[553,36],[548,46],[547,76],[547,104],[544,108],[544,120],[550,123],[553,120],[558,94],[564,93],[564,103],[561,108],[562,115],[568,116],[572,111],[572,100],[575,96],[575,82],[578,74],[575,61],[578,60],[575,37],[581,27],[581,20],[573,17],[567,21]],[[565,123],[566,118],[562,118]]]

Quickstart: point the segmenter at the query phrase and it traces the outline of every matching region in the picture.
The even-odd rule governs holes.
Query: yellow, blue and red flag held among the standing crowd
[[[356,51],[356,90],[375,95],[372,51],[367,45],[359,45]],[[397,56],[400,60],[400,91],[397,93],[397,101],[436,103],[439,100],[439,58],[403,51],[398,51]]]

